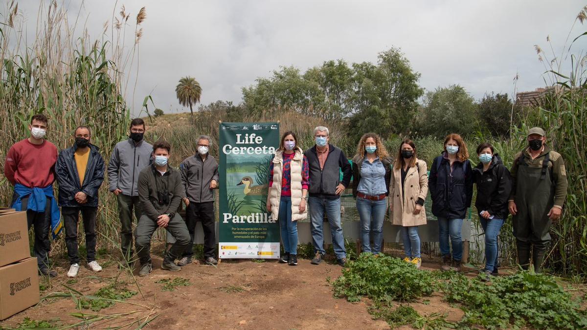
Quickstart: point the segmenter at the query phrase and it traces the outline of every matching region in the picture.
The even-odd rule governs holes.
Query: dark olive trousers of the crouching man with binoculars
[[[147,215],[141,215],[139,218],[139,224],[137,224],[134,231],[134,244],[136,245],[137,256],[141,265],[151,263],[151,236],[153,236],[158,227],[157,221],[151,220]],[[173,235],[176,243],[171,245],[163,260],[165,262],[174,262],[190,245],[190,233],[185,227],[185,222],[177,213],[169,220],[165,230]]]

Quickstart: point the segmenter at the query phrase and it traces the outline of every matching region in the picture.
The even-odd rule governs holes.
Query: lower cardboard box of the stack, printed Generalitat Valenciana
[[[0,320],[39,302],[36,258],[0,267]]]

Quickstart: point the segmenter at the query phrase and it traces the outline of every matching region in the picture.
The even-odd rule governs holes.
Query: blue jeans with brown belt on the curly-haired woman
[[[383,219],[387,211],[387,198],[366,200],[357,197],[357,211],[361,220],[361,245],[363,252],[381,252],[383,242]],[[373,248],[370,240],[373,233]]]

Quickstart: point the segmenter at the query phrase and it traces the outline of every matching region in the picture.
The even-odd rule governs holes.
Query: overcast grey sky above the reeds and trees
[[[21,1],[23,2],[23,1]],[[475,99],[485,92],[511,93],[544,86],[545,50],[551,38],[560,53],[582,1],[66,1],[72,20],[80,11],[93,38],[122,4],[131,13],[146,6],[134,110],[153,96],[165,112],[189,111],[175,86],[193,76],[201,102],[242,100],[241,87],[280,65],[305,70],[325,60],[376,62],[377,53],[401,48],[426,90],[460,84]],[[36,24],[38,2],[19,8],[26,26]],[[586,23],[587,24],[587,23]],[[79,29],[78,29],[79,31]],[[585,31],[576,24],[571,40]],[[575,45],[585,48],[586,39]],[[130,43],[127,43],[130,46]],[[552,58],[552,55],[551,55]],[[132,102],[132,92],[127,92]]]

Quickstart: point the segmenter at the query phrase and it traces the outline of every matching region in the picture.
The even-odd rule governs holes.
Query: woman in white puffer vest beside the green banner
[[[298,146],[294,132],[285,132],[279,149],[269,167],[267,211],[272,219],[279,219],[281,241],[285,253],[279,262],[290,266],[298,264],[298,220],[308,217],[306,194],[309,179],[308,159]]]

